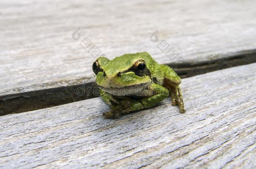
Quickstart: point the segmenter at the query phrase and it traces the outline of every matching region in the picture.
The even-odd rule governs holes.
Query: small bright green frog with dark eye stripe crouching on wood
[[[102,99],[111,110],[105,118],[118,118],[151,108],[167,97],[184,113],[180,77],[167,65],[159,65],[149,53],[125,54],[109,60],[99,57],[92,65]]]

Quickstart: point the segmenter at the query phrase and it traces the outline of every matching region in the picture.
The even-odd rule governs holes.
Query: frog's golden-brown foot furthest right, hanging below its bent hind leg
[[[180,113],[185,113],[183,97],[181,94],[180,86],[172,86],[171,87],[171,97],[172,97],[172,105],[179,105]]]

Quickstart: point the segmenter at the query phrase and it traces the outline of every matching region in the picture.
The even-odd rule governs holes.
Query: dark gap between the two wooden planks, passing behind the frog
[[[174,68],[181,78],[188,78],[207,72],[254,62],[256,62],[256,50],[246,50],[238,53],[232,53],[232,55],[226,55],[215,60],[197,61],[194,63],[172,63],[167,65]],[[89,81],[78,85],[0,96],[0,116],[95,98],[99,96],[99,93],[89,90],[90,88],[93,89],[95,87],[97,86],[95,86],[94,82]],[[82,88],[85,93],[78,95],[77,90],[79,88]]]

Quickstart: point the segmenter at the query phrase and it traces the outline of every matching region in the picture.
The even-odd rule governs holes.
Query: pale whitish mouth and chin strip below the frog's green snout
[[[141,83],[125,87],[103,87],[97,85],[103,91],[110,93],[114,96],[151,96],[148,86],[150,83]]]

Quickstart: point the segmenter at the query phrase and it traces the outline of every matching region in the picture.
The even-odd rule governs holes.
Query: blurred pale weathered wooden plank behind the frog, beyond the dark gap
[[[256,1],[233,0],[1,1],[1,99],[94,81],[95,58],[80,45],[86,37],[110,59],[147,51],[159,63],[256,49],[255,6]],[[77,28],[81,38],[73,40]],[[155,30],[153,43],[149,37]],[[170,60],[157,47],[161,40],[179,57]]]

